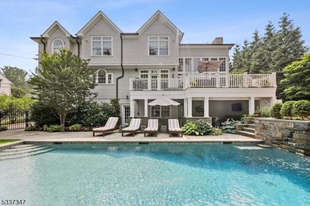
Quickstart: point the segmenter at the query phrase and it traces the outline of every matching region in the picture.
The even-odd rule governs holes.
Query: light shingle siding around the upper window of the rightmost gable
[[[169,36],[168,56],[148,56],[148,36]],[[176,34],[161,20],[156,19],[139,39],[124,39],[124,64],[171,64],[179,62],[179,44]]]

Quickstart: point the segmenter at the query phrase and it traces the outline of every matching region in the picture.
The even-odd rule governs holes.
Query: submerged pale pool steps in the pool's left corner
[[[31,146],[29,147],[30,147],[29,149],[22,149],[22,150],[17,150],[17,151],[10,151],[10,149],[6,149],[6,151],[1,151],[0,161],[33,156],[33,155],[49,152],[55,149],[52,147],[44,147],[44,146],[32,147],[32,148]]]

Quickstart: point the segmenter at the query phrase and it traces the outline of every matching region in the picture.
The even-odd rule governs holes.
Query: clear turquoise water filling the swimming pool
[[[31,206],[309,206],[310,159],[232,144],[48,145],[0,161],[0,199]]]

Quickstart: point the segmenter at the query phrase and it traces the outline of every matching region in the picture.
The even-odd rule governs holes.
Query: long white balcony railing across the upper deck
[[[277,87],[272,74],[189,74],[185,78],[130,78],[130,90],[183,90],[186,88]]]

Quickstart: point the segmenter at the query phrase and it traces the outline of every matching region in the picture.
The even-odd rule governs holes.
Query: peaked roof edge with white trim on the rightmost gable
[[[155,14],[153,16],[151,16],[151,18],[149,20],[147,20],[147,22],[145,22],[143,24],[143,26],[137,31],[137,33],[139,33],[139,35],[141,35],[147,28],[149,28],[156,19],[160,19],[162,22],[164,22],[172,31],[175,32],[175,34],[177,34],[178,36],[180,36],[179,38],[179,43],[182,40],[182,37],[184,35],[184,33],[182,31],[180,31],[180,29],[178,29],[165,15],[163,15],[159,10],[157,10],[157,12],[155,12]]]

